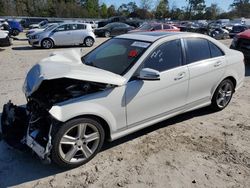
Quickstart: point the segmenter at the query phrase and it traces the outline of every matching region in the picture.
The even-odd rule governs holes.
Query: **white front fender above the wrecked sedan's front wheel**
[[[125,87],[121,86],[56,104],[49,113],[61,122],[83,115],[98,116],[107,122],[112,134],[127,125],[124,104]]]

